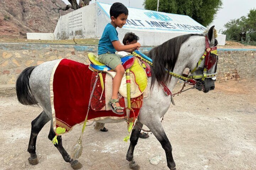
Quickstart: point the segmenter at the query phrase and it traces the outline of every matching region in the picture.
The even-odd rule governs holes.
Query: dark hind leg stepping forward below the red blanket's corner
[[[54,137],[55,137],[55,132],[53,131],[53,125],[51,124],[50,133],[48,135],[48,138],[50,140],[52,140]],[[63,148],[61,135],[59,135],[57,137],[57,140],[58,140],[58,144],[55,144],[54,146],[59,150],[59,152],[61,153],[63,159],[66,162],[69,162],[73,169],[80,169],[80,168],[82,168],[82,164],[80,162],[78,162],[78,160],[73,160],[70,157],[70,155],[66,152],[66,150]]]

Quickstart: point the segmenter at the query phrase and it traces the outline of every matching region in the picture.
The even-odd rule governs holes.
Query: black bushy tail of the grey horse
[[[30,74],[36,66],[31,66],[22,71],[16,81],[16,93],[18,100],[23,105],[37,105],[38,102],[29,87]]]

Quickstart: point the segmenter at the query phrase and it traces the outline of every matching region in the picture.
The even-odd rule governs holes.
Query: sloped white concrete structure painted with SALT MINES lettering
[[[111,5],[94,3],[59,18],[54,31],[55,39],[100,38],[110,22]],[[198,33],[206,27],[186,15],[169,14],[137,8],[128,8],[129,16],[122,29],[117,28],[122,42],[126,32],[134,32],[144,46],[156,46],[176,36]],[[29,33],[28,39],[39,39],[38,33]],[[34,37],[33,37],[34,36]],[[219,34],[219,45],[225,45],[226,35]]]

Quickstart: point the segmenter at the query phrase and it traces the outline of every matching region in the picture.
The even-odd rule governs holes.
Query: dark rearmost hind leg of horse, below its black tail
[[[31,122],[31,133],[27,151],[30,153],[30,158],[28,161],[31,165],[37,165],[38,159],[36,154],[36,142],[37,142],[37,135],[43,128],[43,126],[50,121],[50,118],[46,115],[43,111],[36,119]]]

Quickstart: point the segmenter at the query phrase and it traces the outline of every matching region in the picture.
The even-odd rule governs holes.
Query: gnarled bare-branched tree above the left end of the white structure
[[[79,8],[82,8],[86,5],[89,5],[91,0],[79,0],[79,5],[77,4],[76,0],[68,0],[69,5],[66,5],[65,7],[61,7],[58,3],[56,3],[56,0],[52,0],[52,3],[55,4],[58,8],[58,10],[66,11],[69,8],[77,10]]]

